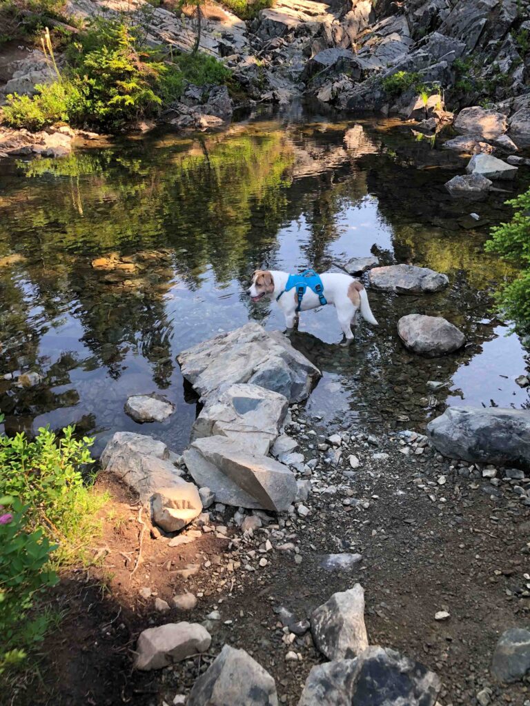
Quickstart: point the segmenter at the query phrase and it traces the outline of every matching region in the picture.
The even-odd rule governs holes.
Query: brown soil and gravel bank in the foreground
[[[298,429],[290,433],[298,434],[306,461],[322,461],[326,453],[314,447],[325,435],[302,417],[303,411],[295,421]],[[42,646],[41,679],[18,685],[8,703],[170,705],[176,694],[189,692],[228,642],[252,654],[276,678],[280,702],[295,706],[321,657],[309,633],[286,644],[289,631],[274,609],[283,606],[305,618],[334,592],[360,582],[370,643],[394,647],[436,671],[443,683],[442,706],[475,705],[485,686],[492,689],[491,705],[527,704],[528,678],[500,686],[489,673],[500,633],[529,624],[530,508],[512,487],[525,481],[505,480],[499,471],[492,484],[480,468],[442,460],[428,446],[421,453],[421,440],[404,455],[399,436],[350,439],[342,433],[346,440],[338,465],[313,472],[305,519],[271,515],[268,526],[244,535],[230,522],[235,508],[212,507],[207,527],[217,529],[172,548],[168,537],[151,536],[143,513],[146,529],[134,573],[139,505],[101,475],[98,485],[110,491],[112,503],[102,538],[94,543],[95,566],[64,576],[54,596],[64,616]],[[389,457],[374,458],[382,452]],[[348,463],[351,453],[360,459],[355,471]],[[198,527],[196,520],[183,534]],[[267,538],[271,551],[264,546]],[[295,551],[276,549],[285,542]],[[319,568],[322,554],[342,551],[358,551],[363,561],[347,571]],[[264,556],[268,563],[261,568]],[[198,566],[198,573],[184,580],[177,571],[190,565]],[[153,596],[143,599],[141,587],[151,588]],[[182,590],[198,597],[193,611],[155,611],[154,594],[171,604]],[[206,618],[213,610],[220,620]],[[443,610],[450,618],[435,621]],[[139,632],[180,620],[202,622],[211,631],[208,655],[159,671],[134,671]],[[286,662],[288,650],[302,659]]]

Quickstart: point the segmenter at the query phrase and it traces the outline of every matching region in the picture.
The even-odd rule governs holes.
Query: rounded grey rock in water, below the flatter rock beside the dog
[[[461,348],[466,337],[442,316],[411,313],[398,322],[398,334],[404,345],[414,353],[434,358]]]

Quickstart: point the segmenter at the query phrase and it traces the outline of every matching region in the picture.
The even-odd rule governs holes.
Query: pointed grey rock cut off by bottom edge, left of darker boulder
[[[245,650],[225,645],[189,693],[187,706],[278,706],[271,675]]]

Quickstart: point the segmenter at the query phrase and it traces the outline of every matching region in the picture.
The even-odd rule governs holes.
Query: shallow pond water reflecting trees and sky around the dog
[[[450,287],[423,297],[370,292],[379,328],[361,323],[348,349],[337,345],[331,307],[305,313],[293,343],[324,373],[312,414],[331,426],[422,429],[446,405],[530,407],[514,382],[525,351],[490,299],[513,273],[483,253],[488,225],[509,217],[507,194],[467,208],[452,201],[443,184],[463,164],[391,121],[325,116],[4,162],[0,373],[45,376],[30,390],[0,381],[6,430],[76,422],[99,448],[130,430],[182,450],[196,405],[178,352],[249,319],[283,328],[276,306],[245,297],[249,273],[322,271],[370,253],[447,273]],[[523,174],[509,188],[524,185]],[[92,265],[110,253],[114,263]],[[409,354],[396,334],[405,313],[440,313],[469,344],[442,359]],[[428,381],[445,386],[433,393]],[[142,426],[124,414],[128,395],[154,391],[177,405],[170,419]]]

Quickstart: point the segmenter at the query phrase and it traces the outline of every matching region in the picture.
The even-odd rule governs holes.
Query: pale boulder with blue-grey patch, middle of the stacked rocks
[[[251,453],[267,454],[280,433],[288,405],[287,397],[259,385],[230,385],[218,400],[206,400],[192,438],[228,436]]]

